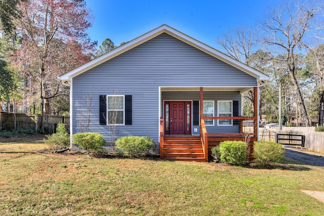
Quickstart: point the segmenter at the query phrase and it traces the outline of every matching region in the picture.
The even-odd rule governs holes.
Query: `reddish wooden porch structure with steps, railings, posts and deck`
[[[204,116],[204,88],[199,88],[199,134],[198,135],[168,135],[165,133],[166,116],[160,117],[159,150],[160,158],[168,160],[205,161],[211,158],[211,148],[223,141],[244,141],[249,143],[249,159],[253,159],[253,142],[258,139],[258,87],[253,87],[253,116]],[[206,120],[230,120],[238,122],[236,133],[209,132]],[[253,131],[246,131],[243,121],[253,121]],[[229,130],[230,131],[230,130]]]

